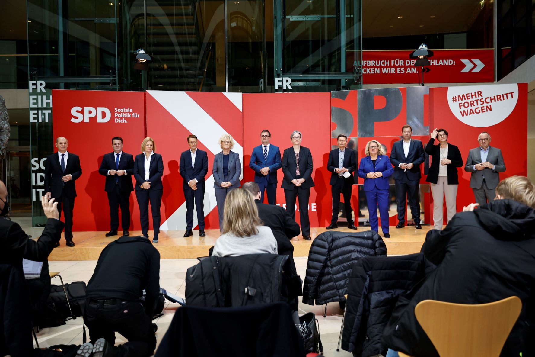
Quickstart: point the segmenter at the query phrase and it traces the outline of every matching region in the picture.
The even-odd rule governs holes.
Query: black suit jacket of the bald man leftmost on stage
[[[64,186],[62,177],[68,174],[72,175],[72,180],[67,181]],[[62,191],[67,198],[75,198],[77,195],[74,181],[80,176],[82,176],[80,157],[67,151],[67,165],[65,172],[63,172],[56,151],[56,153],[47,156],[47,163],[44,166],[44,192],[51,192],[52,198],[56,199],[62,195]]]

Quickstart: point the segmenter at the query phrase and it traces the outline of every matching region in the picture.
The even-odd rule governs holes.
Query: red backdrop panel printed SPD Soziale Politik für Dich
[[[110,207],[104,192],[106,178],[98,173],[98,168],[104,154],[113,151],[113,136],[123,138],[125,153],[135,156],[141,152],[145,137],[144,97],[140,92],[52,90],[54,137],[65,136],[69,143],[67,151],[79,155],[82,166],[82,176],[76,180],[73,231],[110,229]],[[133,194],[130,211],[130,229],[141,229]]]

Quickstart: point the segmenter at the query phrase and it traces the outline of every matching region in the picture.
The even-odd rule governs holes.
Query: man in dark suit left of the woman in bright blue
[[[347,146],[347,136],[344,134],[338,135],[338,149],[331,150],[329,153],[329,160],[327,162],[327,170],[331,172],[331,193],[333,195],[333,216],[331,224],[327,229],[338,228],[338,212],[340,208],[340,194],[343,195],[344,207],[346,209],[347,227],[350,229],[357,229],[353,223],[353,216],[351,215],[351,189],[355,183],[353,172],[357,168],[355,158],[355,151],[349,149]],[[343,174],[348,172],[349,176],[344,177]]]

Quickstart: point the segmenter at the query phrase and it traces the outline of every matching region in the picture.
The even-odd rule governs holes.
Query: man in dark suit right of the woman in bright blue
[[[398,199],[398,220],[396,228],[405,226],[405,210],[407,198],[409,199],[410,212],[416,229],[422,229],[420,225],[420,199],[418,188],[420,185],[420,165],[425,161],[425,152],[422,141],[411,139],[412,127],[401,127],[402,139],[394,142],[390,153],[390,162],[394,165],[394,179],[396,185],[396,197]]]

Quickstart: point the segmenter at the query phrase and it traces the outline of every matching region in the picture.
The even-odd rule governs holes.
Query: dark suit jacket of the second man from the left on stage
[[[126,175],[109,175],[109,170],[125,170]],[[132,185],[132,175],[134,174],[134,156],[127,154],[123,151],[119,160],[119,168],[115,165],[115,153],[108,153],[104,155],[102,159],[101,167],[98,169],[98,173],[106,177],[106,184],[104,185],[105,192],[113,192],[115,189],[116,179],[119,182],[120,192],[132,192],[134,191],[134,185]]]

